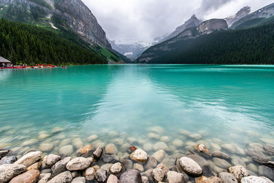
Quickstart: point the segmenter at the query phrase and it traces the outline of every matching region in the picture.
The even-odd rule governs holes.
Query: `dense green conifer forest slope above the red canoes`
[[[72,32],[0,19],[0,56],[14,64],[105,64],[108,60],[88,48]]]

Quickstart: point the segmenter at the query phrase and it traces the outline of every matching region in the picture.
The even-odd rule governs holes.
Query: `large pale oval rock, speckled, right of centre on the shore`
[[[188,157],[182,157],[179,160],[179,164],[182,169],[189,175],[199,176],[203,173],[203,170],[197,162]]]

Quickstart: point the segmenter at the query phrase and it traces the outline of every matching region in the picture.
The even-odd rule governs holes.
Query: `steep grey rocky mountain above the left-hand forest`
[[[54,29],[73,30],[86,42],[112,49],[101,25],[81,0],[1,0],[0,17]]]

